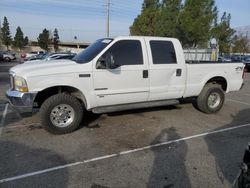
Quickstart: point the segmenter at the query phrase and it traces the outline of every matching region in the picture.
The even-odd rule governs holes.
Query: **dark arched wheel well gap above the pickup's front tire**
[[[79,89],[76,89],[71,86],[55,86],[55,87],[46,88],[38,92],[34,100],[34,107],[40,108],[43,102],[47,98],[58,93],[70,94],[76,97],[85,106],[85,108],[87,107],[87,101],[86,101],[85,96],[82,94],[82,92]]]

